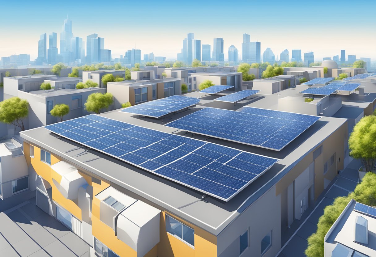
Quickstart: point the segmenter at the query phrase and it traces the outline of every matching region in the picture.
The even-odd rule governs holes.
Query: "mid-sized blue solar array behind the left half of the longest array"
[[[160,118],[172,112],[185,109],[199,103],[200,100],[194,97],[186,97],[183,95],[173,95],[162,99],[149,101],[127,107],[121,112],[133,113],[153,118]]]

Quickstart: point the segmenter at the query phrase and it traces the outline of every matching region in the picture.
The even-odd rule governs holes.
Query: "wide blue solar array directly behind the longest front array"
[[[206,107],[165,126],[280,151],[318,119],[253,107],[241,112]]]

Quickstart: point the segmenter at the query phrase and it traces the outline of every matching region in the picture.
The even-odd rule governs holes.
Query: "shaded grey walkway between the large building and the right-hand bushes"
[[[324,195],[324,198],[315,207],[314,211],[301,222],[298,230],[290,237],[289,241],[281,249],[277,257],[305,257],[307,239],[317,229],[318,218],[324,213],[324,208],[333,203],[339,196],[346,196],[352,192],[358,184],[358,168],[361,166],[358,160],[353,160],[338,176],[338,179]]]

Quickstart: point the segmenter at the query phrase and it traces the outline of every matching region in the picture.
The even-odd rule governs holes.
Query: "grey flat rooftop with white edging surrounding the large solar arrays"
[[[197,97],[196,95],[200,94],[197,92],[186,94],[186,96],[191,97]],[[202,109],[207,104],[217,104],[218,101],[214,101],[215,97],[218,96],[202,97],[200,103],[195,108],[171,116],[171,121]],[[252,100],[248,105],[254,106]],[[232,108],[238,110],[243,106],[243,104],[238,104],[237,106],[232,106]],[[165,123],[161,119],[139,118],[138,115],[119,112],[119,110],[113,110],[100,115],[162,132],[173,133],[176,131],[174,128],[164,126]],[[193,136],[191,133],[184,135],[280,159],[267,172],[258,177],[228,202],[218,200],[214,197],[206,197],[205,201],[202,201],[203,194],[199,191],[174,183],[98,151],[85,150],[82,145],[65,138],[58,138],[44,127],[23,131],[20,135],[27,142],[39,145],[47,151],[63,157],[77,168],[111,182],[111,184],[114,184],[114,187],[117,187],[117,189],[128,194],[130,197],[144,200],[150,204],[158,204],[168,212],[212,234],[218,235],[243,210],[267,192],[297,162],[302,160],[306,154],[321,144],[321,142],[345,122],[346,119],[322,117],[281,151],[267,150],[223,139],[207,138],[206,136],[197,134]],[[178,135],[183,134],[184,132],[178,133]]]

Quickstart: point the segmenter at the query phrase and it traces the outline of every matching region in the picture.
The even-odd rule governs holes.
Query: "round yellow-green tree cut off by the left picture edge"
[[[0,102],[0,121],[25,130],[23,119],[29,114],[29,103],[25,99],[12,97]]]

